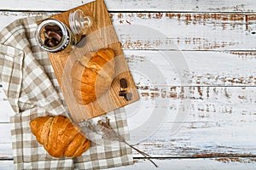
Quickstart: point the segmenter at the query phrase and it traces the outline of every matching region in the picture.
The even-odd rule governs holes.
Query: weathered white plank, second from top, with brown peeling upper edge
[[[0,29],[38,12],[0,12]],[[55,14],[55,13],[53,13]],[[256,14],[110,13],[124,49],[254,50]],[[147,30],[147,31],[145,31]],[[200,31],[199,31],[200,30]],[[148,36],[149,35],[149,36]]]

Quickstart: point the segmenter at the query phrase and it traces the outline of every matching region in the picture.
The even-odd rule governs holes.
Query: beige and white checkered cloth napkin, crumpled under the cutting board
[[[131,148],[117,141],[95,137],[90,150],[77,158],[56,159],[38,144],[29,122],[38,116],[67,116],[48,55],[35,42],[36,21],[44,17],[16,20],[0,32],[0,82],[15,111],[12,124],[13,153],[17,169],[101,169],[133,163]],[[107,115],[111,126],[129,140],[125,111]],[[96,117],[91,122],[104,119]],[[97,139],[98,138],[98,139]]]

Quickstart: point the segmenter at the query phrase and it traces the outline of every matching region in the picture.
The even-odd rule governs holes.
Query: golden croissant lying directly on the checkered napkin
[[[30,122],[30,127],[50,156],[76,157],[90,148],[90,140],[65,116],[37,117]]]

